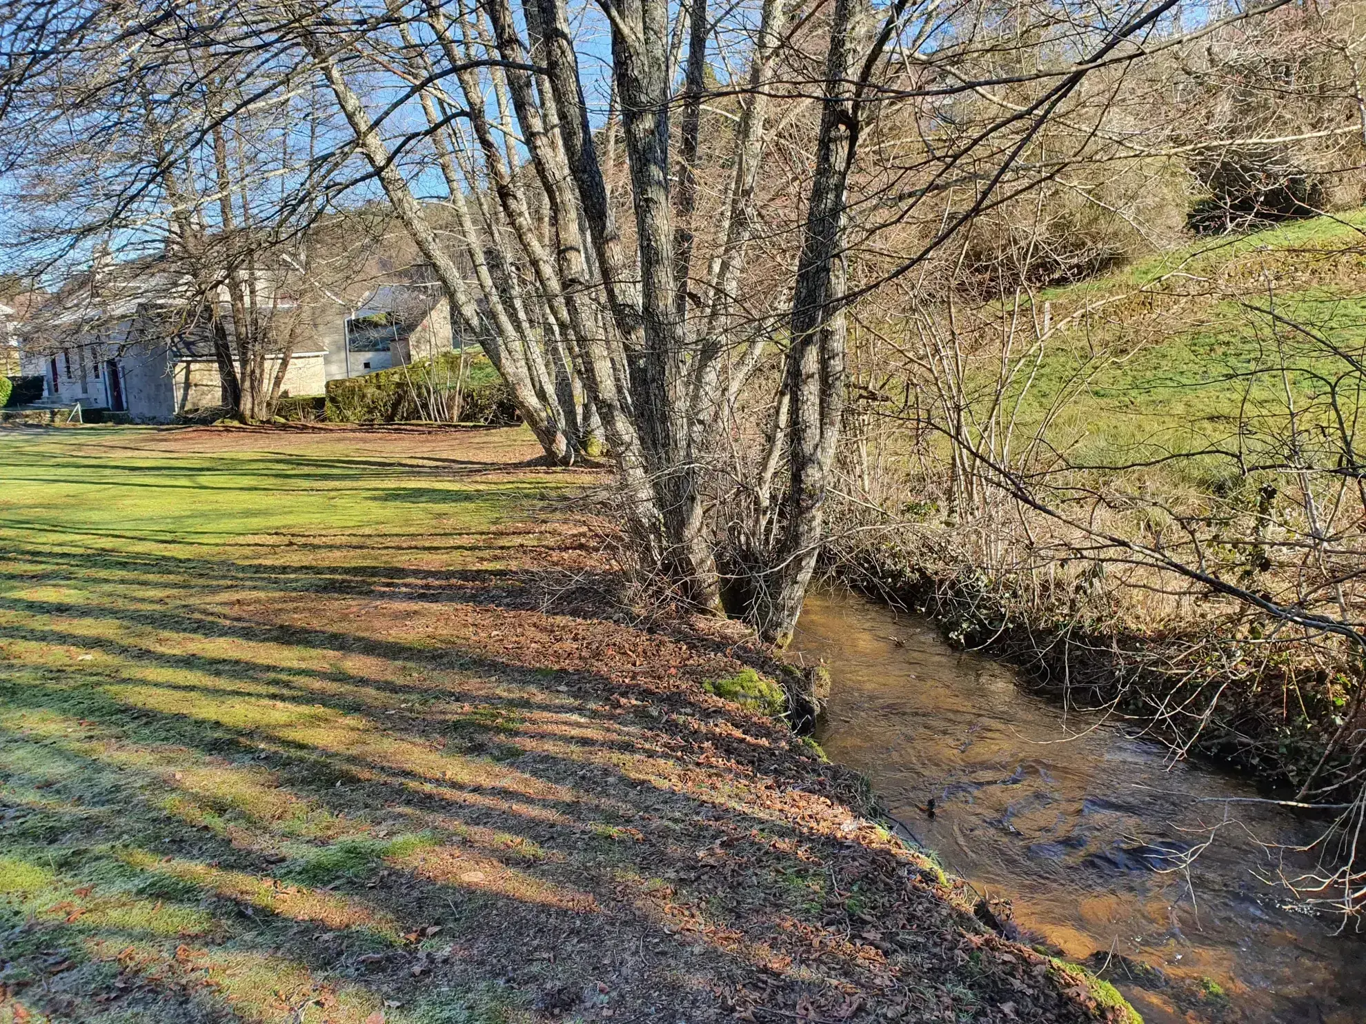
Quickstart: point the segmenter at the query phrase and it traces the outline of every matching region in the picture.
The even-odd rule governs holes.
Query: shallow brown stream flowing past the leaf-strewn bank
[[[855,595],[813,594],[792,650],[831,670],[826,754],[949,871],[1009,900],[1024,941],[1104,965],[1147,1024],[1366,1023],[1366,939],[1258,879],[1302,856],[1261,844],[1303,844],[1317,822]]]

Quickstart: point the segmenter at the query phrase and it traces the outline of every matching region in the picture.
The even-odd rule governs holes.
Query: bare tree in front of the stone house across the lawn
[[[120,303],[158,310],[143,340],[208,335],[224,406],[269,418],[301,332],[346,277],[347,232],[314,248],[329,111],[272,55],[202,31],[220,22],[199,4],[15,14],[31,48],[5,78],[7,246],[55,285],[94,281],[82,262],[108,253]],[[113,315],[98,288],[85,300],[85,319]],[[74,322],[67,304],[51,313]]]

